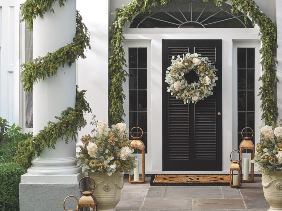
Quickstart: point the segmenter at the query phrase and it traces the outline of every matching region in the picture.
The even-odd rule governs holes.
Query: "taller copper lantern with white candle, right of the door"
[[[243,138],[243,141],[240,143],[240,152],[241,152],[241,155],[243,153],[243,150],[250,150],[251,151],[251,160],[254,159],[254,156],[255,156],[255,145],[253,144],[252,142],[252,138],[254,136],[254,131],[253,129],[249,128],[252,130],[253,132],[253,135],[252,137],[244,137],[243,136],[243,131],[245,129],[247,129],[249,127],[246,127],[242,130],[241,132],[241,135],[242,135],[242,138]],[[254,163],[251,163],[251,174],[249,175],[249,158],[244,158],[244,172],[243,172],[243,178],[242,178],[242,182],[253,182],[254,181],[254,171],[255,171],[255,166],[254,166]],[[241,162],[241,166],[242,166],[242,162]]]

